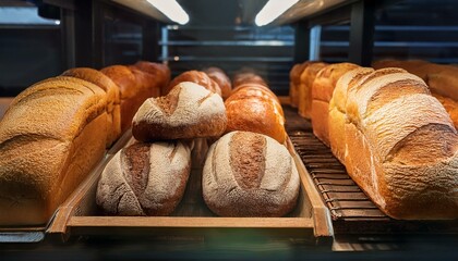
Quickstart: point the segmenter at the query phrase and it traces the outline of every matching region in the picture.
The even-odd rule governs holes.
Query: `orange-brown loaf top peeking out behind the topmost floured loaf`
[[[178,75],[177,77],[174,77],[172,82],[170,82],[169,86],[164,89],[162,95],[165,96],[169,94],[170,90],[174,88],[174,86],[184,82],[191,82],[191,83],[197,84],[206,88],[207,90],[221,96],[221,88],[219,88],[218,84],[215,80],[213,80],[206,73],[195,71],[195,70],[184,72]]]

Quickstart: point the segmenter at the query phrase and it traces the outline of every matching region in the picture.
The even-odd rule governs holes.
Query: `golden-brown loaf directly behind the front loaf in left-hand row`
[[[62,73],[62,76],[71,76],[85,79],[100,87],[107,97],[107,121],[108,136],[107,148],[121,136],[121,109],[119,98],[119,87],[101,72],[89,67],[70,69]]]

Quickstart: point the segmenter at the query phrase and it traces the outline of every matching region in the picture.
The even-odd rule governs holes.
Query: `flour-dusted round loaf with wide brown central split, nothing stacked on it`
[[[285,146],[262,134],[232,132],[212,145],[202,189],[221,216],[282,216],[297,203],[300,178]]]

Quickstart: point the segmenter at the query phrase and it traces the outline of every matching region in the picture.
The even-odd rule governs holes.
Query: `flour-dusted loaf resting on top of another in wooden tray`
[[[147,99],[133,120],[137,140],[218,137],[227,124],[222,98],[184,82],[167,95]]]

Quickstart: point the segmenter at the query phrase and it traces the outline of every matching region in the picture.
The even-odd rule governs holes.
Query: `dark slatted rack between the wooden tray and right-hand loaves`
[[[330,211],[335,235],[458,235],[458,220],[402,221],[383,213],[348,175],[328,147],[312,133],[309,121],[285,108],[288,135],[306,175]]]

